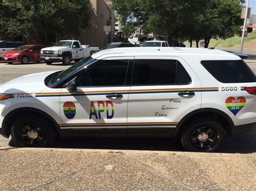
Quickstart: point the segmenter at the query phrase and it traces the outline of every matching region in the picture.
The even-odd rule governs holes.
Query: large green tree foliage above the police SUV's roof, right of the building
[[[184,41],[225,39],[239,32],[240,0],[113,0],[124,27],[143,27],[145,32]]]

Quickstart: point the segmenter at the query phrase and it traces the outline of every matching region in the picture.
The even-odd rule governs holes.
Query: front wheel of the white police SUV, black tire
[[[56,133],[51,122],[42,116],[19,116],[11,126],[11,137],[18,147],[50,147]]]

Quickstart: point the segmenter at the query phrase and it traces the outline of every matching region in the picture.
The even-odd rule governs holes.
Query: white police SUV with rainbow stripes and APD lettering
[[[210,152],[226,135],[256,128],[255,75],[239,56],[214,49],[107,49],[64,71],[18,77],[0,93],[0,133],[18,146],[146,136]]]

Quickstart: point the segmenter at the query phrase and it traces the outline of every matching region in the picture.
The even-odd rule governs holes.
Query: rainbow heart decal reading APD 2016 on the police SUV
[[[237,115],[237,113],[245,107],[246,99],[245,97],[228,97],[226,98],[226,107],[229,109],[234,115]]]

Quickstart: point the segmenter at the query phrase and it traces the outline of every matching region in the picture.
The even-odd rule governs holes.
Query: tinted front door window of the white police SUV
[[[77,86],[124,86],[129,60],[104,60],[78,76]]]

